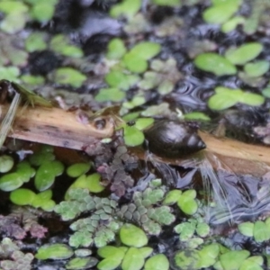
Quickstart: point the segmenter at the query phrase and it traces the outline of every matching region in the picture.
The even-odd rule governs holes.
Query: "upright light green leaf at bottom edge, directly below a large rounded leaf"
[[[130,247],[125,254],[121,263],[122,270],[139,270],[144,265],[144,257],[142,257],[139,249]]]

